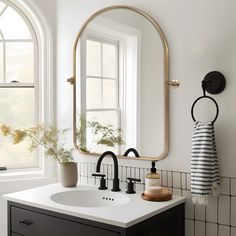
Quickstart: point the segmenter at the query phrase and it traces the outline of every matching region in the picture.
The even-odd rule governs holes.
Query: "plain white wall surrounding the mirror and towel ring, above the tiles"
[[[234,0],[60,0],[58,13],[58,103],[60,126],[72,126],[72,87],[66,78],[72,75],[72,51],[76,34],[86,19],[100,8],[127,4],[146,11],[164,30],[171,58],[171,79],[181,86],[170,90],[170,152],[159,163],[162,169],[189,171],[193,122],[190,109],[202,94],[201,80],[209,71],[219,70],[226,76],[227,87],[214,96],[220,107],[215,124],[222,176],[236,176],[235,140],[236,107],[236,2]],[[72,139],[71,139],[72,145]],[[92,162],[94,158],[88,159]],[[146,161],[122,164],[149,166]]]

